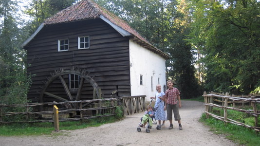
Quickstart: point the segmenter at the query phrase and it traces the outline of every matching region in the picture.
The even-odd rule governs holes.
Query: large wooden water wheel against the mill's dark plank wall
[[[68,87],[68,76],[70,74],[79,76],[79,86],[76,91],[72,91]],[[40,102],[46,102],[47,97],[55,99],[58,102],[79,101],[81,100],[82,89],[86,83],[89,84],[89,86],[92,86],[92,99],[95,97],[96,99],[100,98],[101,90],[93,80],[93,77],[89,76],[89,72],[87,70],[82,70],[75,67],[73,67],[71,70],[64,70],[61,68],[59,70],[55,70],[54,73],[51,73],[50,77],[47,77],[47,82],[45,82],[44,87],[42,87],[39,98]],[[63,88],[63,91],[60,91],[63,92],[63,96],[59,95],[59,93],[55,91],[56,87],[59,87],[59,90]]]

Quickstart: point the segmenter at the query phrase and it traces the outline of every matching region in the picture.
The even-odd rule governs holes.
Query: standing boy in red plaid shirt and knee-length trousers
[[[171,80],[167,81],[168,90],[165,92],[165,107],[164,110],[167,109],[167,120],[170,121],[169,129],[173,128],[172,125],[172,111],[174,114],[174,120],[178,121],[179,129],[182,130],[181,117],[179,114],[179,108],[182,107],[180,91],[177,88],[173,87],[173,82]]]

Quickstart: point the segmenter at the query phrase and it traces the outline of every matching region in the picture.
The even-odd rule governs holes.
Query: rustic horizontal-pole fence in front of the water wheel
[[[53,110],[49,111],[30,111],[30,109],[40,106],[49,106],[52,107],[54,105],[59,106],[63,105],[67,107],[66,109],[59,110],[59,114],[71,114],[75,112],[79,112],[79,115],[75,118],[70,117],[60,117],[59,121],[77,121],[82,119],[92,119],[96,117],[105,117],[111,116],[115,114],[115,107],[117,105],[114,104],[118,99],[110,98],[110,99],[93,99],[93,100],[84,100],[84,101],[68,101],[68,102],[49,102],[49,103],[28,103],[28,104],[16,104],[16,105],[0,105],[0,124],[1,123],[37,123],[37,122],[54,122]],[[93,108],[84,109],[84,105],[92,103]],[[72,108],[72,105],[77,108]],[[23,108],[23,112],[4,112],[4,108],[15,108],[20,107]],[[84,116],[83,112],[86,111],[95,111],[94,116]],[[12,116],[12,115],[25,115],[24,120],[21,121],[4,121],[4,116]],[[41,117],[37,120],[35,117]],[[42,118],[42,117],[50,117],[50,118]]]

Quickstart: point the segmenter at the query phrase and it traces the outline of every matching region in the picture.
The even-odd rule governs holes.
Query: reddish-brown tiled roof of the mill
[[[43,25],[66,23],[66,22],[86,20],[86,19],[95,19],[95,18],[99,18],[101,15],[103,15],[113,24],[117,25],[118,27],[132,34],[134,36],[133,40],[139,43],[140,45],[146,47],[150,51],[153,51],[163,56],[164,58],[168,58],[168,55],[164,54],[162,51],[152,46],[144,37],[142,37],[133,28],[131,28],[127,22],[118,18],[110,11],[102,8],[92,0],[79,1],[78,3],[58,12],[53,17],[46,19],[43,22]]]

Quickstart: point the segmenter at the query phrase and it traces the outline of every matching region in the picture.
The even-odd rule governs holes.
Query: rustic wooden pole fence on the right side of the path
[[[236,124],[239,126],[243,126],[246,128],[252,128],[256,131],[260,131],[260,127],[258,125],[258,116],[260,115],[260,110],[257,109],[257,104],[260,104],[260,98],[255,98],[255,96],[229,96],[228,93],[221,94],[221,93],[209,93],[207,94],[204,92],[204,105],[205,105],[205,113],[206,118],[208,118],[209,115],[212,117],[222,120],[227,123]],[[221,100],[220,100],[221,99]],[[215,104],[214,102],[221,102],[221,104]],[[245,103],[248,103],[248,106],[251,106],[253,110],[244,110],[240,109],[244,106]],[[228,106],[230,104],[230,106]],[[215,115],[212,112],[212,107],[221,108],[224,110],[223,117]],[[240,112],[244,112],[249,114],[250,116],[254,117],[255,123],[254,126],[246,125],[245,123],[241,123],[235,120],[232,120],[230,118],[227,118],[227,110],[236,110]]]

